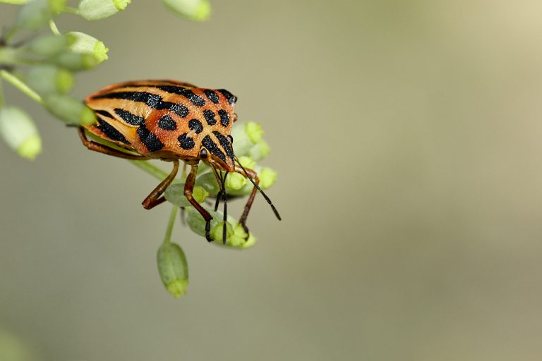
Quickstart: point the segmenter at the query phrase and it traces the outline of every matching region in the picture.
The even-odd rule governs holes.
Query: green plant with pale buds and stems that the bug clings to
[[[162,0],[176,14],[190,20],[205,20],[210,15],[207,0]],[[0,3],[20,5],[18,16],[0,37],[0,137],[8,147],[26,159],[35,159],[42,152],[42,140],[32,118],[23,110],[6,104],[4,82],[16,87],[30,99],[60,121],[80,126],[95,122],[95,114],[80,99],[70,94],[74,75],[95,68],[107,60],[107,47],[99,39],[83,32],[61,32],[54,19],[67,13],[85,20],[101,20],[124,10],[130,0],[81,0],[77,7],[66,0],[0,0]],[[43,35],[45,28],[50,33]],[[30,36],[29,36],[30,35]],[[30,39],[30,40],[28,40]],[[275,183],[277,173],[258,166],[257,161],[270,152],[262,139],[263,130],[257,123],[236,123],[232,128],[234,152],[243,166],[254,169],[260,176],[260,186],[265,189]],[[131,161],[143,171],[162,180],[167,173],[148,161]],[[184,175],[183,175],[184,176]],[[252,185],[238,173],[231,173],[225,183],[229,197],[248,195]],[[207,197],[217,197],[217,180],[209,167],[198,171],[194,197],[205,202]],[[159,248],[159,274],[167,290],[175,296],[186,292],[188,266],[179,245],[171,243],[171,231],[176,210],[186,210],[191,230],[205,233],[205,221],[195,212],[183,195],[183,178],[165,192],[166,199],[174,205],[164,243]],[[207,209],[207,207],[206,207]],[[221,212],[207,209],[213,216],[212,238],[222,240],[223,219]],[[223,247],[246,248],[255,243],[254,236],[246,234],[233,218],[227,217],[227,242],[214,244]]]

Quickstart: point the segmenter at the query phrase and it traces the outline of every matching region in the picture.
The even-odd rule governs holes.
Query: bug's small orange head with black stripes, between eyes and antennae
[[[212,134],[215,135],[218,142],[215,142],[209,135],[205,136],[200,149],[200,159],[215,169],[234,172],[233,137],[231,135],[224,136],[218,132],[212,132]]]

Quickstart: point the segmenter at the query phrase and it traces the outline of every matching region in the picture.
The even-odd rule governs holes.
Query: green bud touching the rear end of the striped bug
[[[68,95],[51,94],[45,97],[45,107],[51,114],[67,124],[88,125],[96,121],[92,109]]]

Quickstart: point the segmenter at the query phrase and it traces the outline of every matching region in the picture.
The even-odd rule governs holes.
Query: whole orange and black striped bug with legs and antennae
[[[143,200],[145,209],[164,202],[162,193],[179,171],[179,159],[191,166],[186,177],[184,195],[205,219],[205,238],[211,241],[209,231],[212,216],[192,197],[198,164],[200,160],[204,161],[215,174],[220,188],[215,210],[219,201],[224,200],[225,242],[227,196],[224,182],[229,172],[241,173],[254,185],[239,220],[247,233],[246,219],[257,190],[280,219],[277,209],[258,186],[258,174],[252,169],[243,168],[235,157],[230,131],[237,118],[234,113],[236,101],[234,94],[227,90],[204,89],[186,82],[122,82],[109,85],[85,99],[97,118],[96,123],[85,128],[127,152],[88,140],[83,127],[79,128],[79,135],[83,145],[95,152],[126,159],[162,159],[173,162],[169,176]]]

